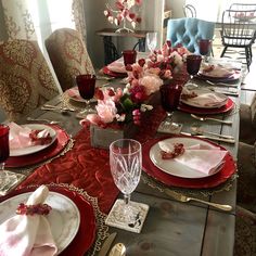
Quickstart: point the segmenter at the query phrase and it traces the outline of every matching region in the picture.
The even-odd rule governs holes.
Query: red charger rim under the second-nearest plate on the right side
[[[178,110],[191,114],[221,114],[231,111],[234,107],[234,102],[229,98],[226,105],[216,108],[201,108],[180,103]]]

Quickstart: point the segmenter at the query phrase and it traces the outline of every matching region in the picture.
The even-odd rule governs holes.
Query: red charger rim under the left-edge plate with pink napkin
[[[34,154],[23,156],[10,156],[5,163],[7,167],[24,167],[35,165],[56,156],[65,149],[69,141],[69,136],[60,126],[50,126],[56,131],[56,140],[49,148]]]

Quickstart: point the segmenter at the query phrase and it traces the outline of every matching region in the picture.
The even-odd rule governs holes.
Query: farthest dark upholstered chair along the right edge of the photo
[[[251,105],[240,105],[239,140],[247,144],[254,144],[256,141],[256,93]]]

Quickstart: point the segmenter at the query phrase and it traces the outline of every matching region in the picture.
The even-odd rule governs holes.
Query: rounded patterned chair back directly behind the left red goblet
[[[79,74],[94,74],[81,35],[71,28],[56,29],[46,40],[46,48],[63,91],[74,86]]]

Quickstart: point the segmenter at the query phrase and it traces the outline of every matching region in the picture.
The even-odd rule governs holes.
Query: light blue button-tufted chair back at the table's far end
[[[189,51],[199,53],[199,39],[213,40],[215,23],[195,17],[170,18],[167,24],[167,39],[171,46],[182,43]]]

